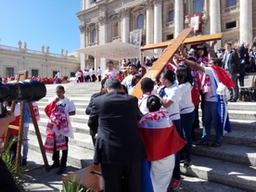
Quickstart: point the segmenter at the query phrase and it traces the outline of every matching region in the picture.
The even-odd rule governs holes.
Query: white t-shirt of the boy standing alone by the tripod
[[[49,101],[48,101],[48,103],[51,103],[53,100],[55,100],[55,98],[56,98],[56,96],[50,98]],[[57,109],[60,109],[60,110],[64,110],[64,111],[65,111],[66,116],[67,116],[67,120],[68,120],[68,123],[69,123],[69,130],[70,130],[70,133],[68,133],[68,134],[63,134],[63,135],[68,136],[68,137],[70,137],[70,138],[73,138],[73,137],[74,137],[74,134],[73,134],[73,130],[72,130],[71,122],[70,122],[70,115],[69,115],[69,112],[76,110],[73,101],[70,100],[69,97],[65,96],[63,99],[59,100],[59,101],[56,103],[56,105],[57,105]]]

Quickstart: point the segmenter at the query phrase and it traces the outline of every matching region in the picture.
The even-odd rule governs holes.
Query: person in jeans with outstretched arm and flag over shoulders
[[[188,60],[186,56],[176,54],[180,60],[184,60],[190,69],[200,70],[205,73],[202,76],[201,87],[205,91],[205,104],[203,115],[203,134],[198,146],[221,147],[224,132],[231,132],[230,122],[227,112],[227,99],[224,88],[234,88],[228,73],[218,66],[222,64],[219,58],[211,58],[208,67],[200,66],[192,60]],[[214,142],[209,145],[211,136],[211,124],[215,129]]]

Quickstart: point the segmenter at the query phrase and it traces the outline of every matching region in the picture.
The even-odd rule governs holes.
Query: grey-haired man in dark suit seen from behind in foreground
[[[137,128],[138,100],[122,91],[118,79],[108,79],[105,88],[107,94],[94,98],[88,121],[98,128],[94,163],[101,163],[104,192],[141,192],[146,152]]]

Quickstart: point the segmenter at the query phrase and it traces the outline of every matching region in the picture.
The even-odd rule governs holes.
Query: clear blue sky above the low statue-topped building
[[[0,0],[0,45],[60,54],[80,48],[80,0]]]

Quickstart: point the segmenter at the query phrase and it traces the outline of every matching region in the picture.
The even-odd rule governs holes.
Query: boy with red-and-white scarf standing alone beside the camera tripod
[[[48,104],[45,107],[45,113],[49,117],[46,128],[45,150],[48,149],[48,151],[53,152],[52,160],[54,163],[49,168],[59,167],[57,173],[62,174],[66,171],[67,166],[69,137],[74,137],[70,116],[75,115],[76,108],[73,101],[64,96],[65,89],[63,86],[57,86],[56,95],[48,100]],[[56,123],[57,121],[58,124]],[[54,138],[54,142],[52,140],[47,142],[50,137]],[[59,150],[62,150],[61,160],[59,160]]]

